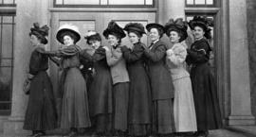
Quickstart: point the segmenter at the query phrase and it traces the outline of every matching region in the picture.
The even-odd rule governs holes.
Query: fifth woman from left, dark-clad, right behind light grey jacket
[[[131,49],[121,46],[130,77],[128,130],[132,136],[147,136],[151,133],[152,97],[144,67],[144,43],[140,42],[145,30],[138,23],[127,24],[123,29],[128,32],[130,42],[133,43]]]

